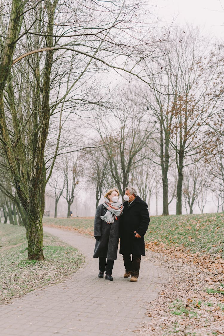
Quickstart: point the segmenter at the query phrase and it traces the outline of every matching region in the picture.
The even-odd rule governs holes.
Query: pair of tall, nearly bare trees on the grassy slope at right
[[[176,32],[177,40],[163,58],[165,70],[155,80],[157,91],[150,91],[154,99],[145,93],[149,114],[158,121],[158,143],[163,176],[163,213],[168,214],[168,168],[170,156],[174,156],[178,171],[176,213],[182,210],[183,168],[190,158],[191,163],[202,154],[205,126],[219,106],[222,89],[215,89],[214,81],[221,80],[220,50],[212,50],[195,38],[195,32],[183,38],[183,32]],[[178,39],[178,37],[180,38]],[[204,55],[203,59],[201,55]],[[215,56],[215,57],[214,57]],[[161,91],[163,90],[163,94]],[[201,133],[200,133],[201,132]],[[201,135],[199,135],[201,134]],[[186,162],[188,164],[188,162]]]

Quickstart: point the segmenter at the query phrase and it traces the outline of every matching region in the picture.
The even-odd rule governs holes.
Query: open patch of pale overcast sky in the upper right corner
[[[193,24],[203,28],[205,34],[223,37],[224,0],[152,0],[158,16],[164,23]]]

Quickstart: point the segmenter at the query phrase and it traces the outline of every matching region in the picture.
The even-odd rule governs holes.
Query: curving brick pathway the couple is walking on
[[[95,240],[77,233],[44,227],[44,230],[77,247],[86,257],[84,266],[63,283],[28,293],[0,306],[0,334],[136,335],[146,316],[145,302],[158,295],[168,274],[142,257],[138,282],[124,279],[121,255],[115,261],[114,281],[98,278],[98,259],[92,258]]]

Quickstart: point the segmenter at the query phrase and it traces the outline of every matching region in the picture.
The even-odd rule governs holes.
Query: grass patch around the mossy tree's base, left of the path
[[[27,260],[24,227],[0,223],[0,303],[63,281],[84,262],[79,251],[44,234],[45,260]]]

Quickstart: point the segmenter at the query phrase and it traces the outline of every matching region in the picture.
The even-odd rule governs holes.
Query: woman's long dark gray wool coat
[[[116,260],[119,241],[119,219],[114,223],[107,223],[100,218],[106,213],[103,204],[98,205],[94,220],[94,236],[100,236],[96,240],[93,258],[106,257],[107,260]]]

